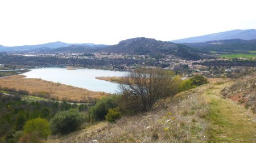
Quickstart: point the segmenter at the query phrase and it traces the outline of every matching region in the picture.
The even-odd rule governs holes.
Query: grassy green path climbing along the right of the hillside
[[[210,103],[209,142],[256,142],[255,115],[243,106],[221,98],[221,89],[230,85],[213,85],[203,94]]]

